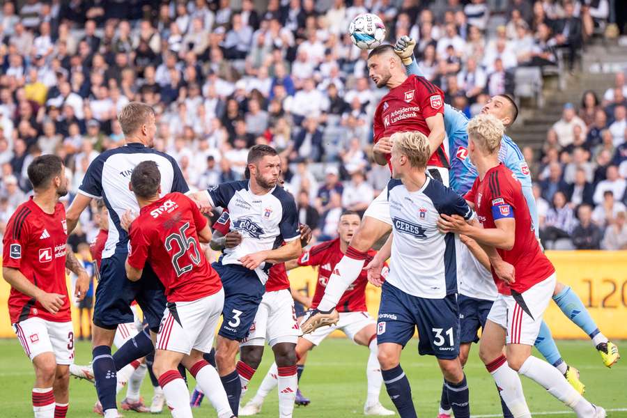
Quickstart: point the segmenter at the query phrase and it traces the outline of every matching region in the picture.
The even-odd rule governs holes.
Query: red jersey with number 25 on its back
[[[207,225],[196,203],[169,193],[139,210],[131,224],[128,263],[143,269],[146,261],[165,286],[168,302],[191,302],[222,288],[207,262],[198,233]]]

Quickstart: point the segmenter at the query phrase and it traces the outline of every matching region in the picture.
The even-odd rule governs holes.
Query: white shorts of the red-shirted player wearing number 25
[[[192,302],[168,303],[157,334],[157,350],[209,353],[222,307],[224,289]]]

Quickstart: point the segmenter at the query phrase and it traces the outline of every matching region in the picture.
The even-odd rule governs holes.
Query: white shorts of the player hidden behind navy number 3
[[[289,289],[266,292],[255,314],[248,336],[240,346],[263,346],[268,341],[272,347],[276,343],[297,343],[300,327],[294,310],[294,300]]]

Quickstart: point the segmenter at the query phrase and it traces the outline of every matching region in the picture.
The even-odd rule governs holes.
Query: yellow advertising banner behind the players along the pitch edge
[[[571,286],[579,295],[603,334],[610,339],[627,339],[627,251],[547,251],[546,254],[557,269],[557,280]],[[309,295],[314,295],[317,277],[316,270],[310,267],[290,272],[292,286]],[[8,317],[9,290],[6,281],[1,279],[0,338],[15,336]],[[373,318],[377,317],[379,300],[380,289],[369,285],[366,302]],[[78,309],[72,305],[76,335],[79,334],[78,318]],[[555,303],[549,304],[544,319],[556,339],[587,338]],[[85,317],[83,324],[86,330]]]

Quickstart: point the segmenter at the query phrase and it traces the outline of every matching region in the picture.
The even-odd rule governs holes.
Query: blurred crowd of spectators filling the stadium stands
[[[269,0],[265,10],[251,0],[20,4],[0,11],[0,233],[30,192],[33,157],[63,157],[72,199],[95,157],[123,144],[116,114],[138,100],[157,112],[155,147],[194,189],[242,178],[254,144],[277,148],[300,221],[322,240],[334,237],[343,208],[363,211],[389,178],[371,162],[372,114],[386,91],[367,77],[368,52],[350,42],[353,17],[380,15],[389,42],[416,38],[426,77],[472,116],[490,95],[512,93],[515,68],[555,65],[560,50],[572,66],[613,2],[511,0],[497,27],[486,0]],[[624,80],[619,87],[564,109],[543,155],[529,156],[554,241],[621,222]],[[588,226],[573,213],[585,212],[580,203],[596,206]],[[622,228],[577,245],[620,245]],[[73,241],[95,233],[85,212]]]

